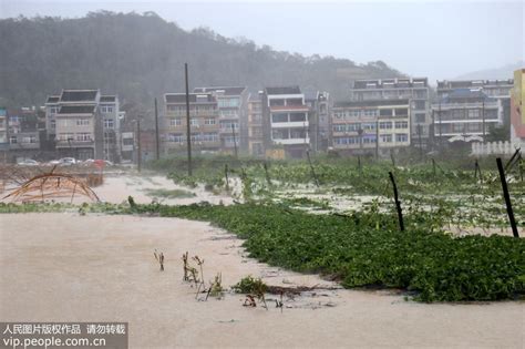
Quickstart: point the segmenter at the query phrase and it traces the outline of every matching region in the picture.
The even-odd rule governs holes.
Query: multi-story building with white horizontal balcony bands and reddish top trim
[[[299,86],[266,88],[261,104],[265,151],[282,148],[286,156],[305,156],[310,146],[309,109]]]

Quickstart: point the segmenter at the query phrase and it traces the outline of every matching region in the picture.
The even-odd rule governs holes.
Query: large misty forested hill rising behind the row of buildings
[[[63,88],[100,88],[123,101],[151,104],[163,92],[183,91],[184,62],[191,86],[240,84],[253,91],[299,84],[340,95],[350,79],[400,75],[381,61],[361,65],[279,52],[208,29],[187,32],[153,12],[3,19],[0,42],[0,105],[6,106],[39,105]]]

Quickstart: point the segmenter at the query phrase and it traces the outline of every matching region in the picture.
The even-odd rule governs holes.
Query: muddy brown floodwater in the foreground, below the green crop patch
[[[206,279],[230,286],[327,284],[245,257],[240,242],[176,218],[0,215],[0,321],[128,321],[131,348],[524,348],[525,305],[416,304],[387,292],[319,290],[271,306],[244,297],[195,299],[181,256],[205,259]],[[153,257],[166,256],[161,273]],[[290,284],[291,283],[291,284]]]

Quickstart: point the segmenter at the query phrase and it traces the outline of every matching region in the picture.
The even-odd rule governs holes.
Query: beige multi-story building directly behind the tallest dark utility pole
[[[186,150],[186,94],[164,94],[161,130],[164,153]],[[217,99],[212,93],[189,93],[192,148],[196,152],[220,151],[220,124]]]

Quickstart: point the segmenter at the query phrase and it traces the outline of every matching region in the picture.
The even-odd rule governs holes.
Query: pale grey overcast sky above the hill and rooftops
[[[0,0],[0,17],[155,11],[277,50],[382,60],[410,75],[452,79],[525,60],[525,0],[141,1]],[[511,76],[509,76],[511,78]]]

